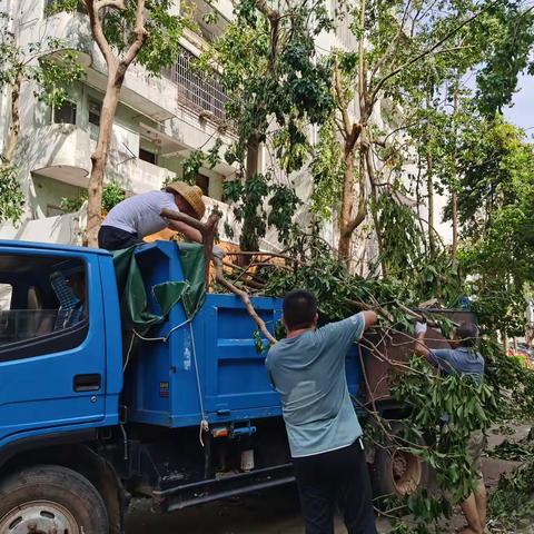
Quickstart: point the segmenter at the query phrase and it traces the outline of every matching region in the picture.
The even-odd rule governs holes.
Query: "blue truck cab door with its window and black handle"
[[[0,246],[0,441],[106,414],[98,257]]]

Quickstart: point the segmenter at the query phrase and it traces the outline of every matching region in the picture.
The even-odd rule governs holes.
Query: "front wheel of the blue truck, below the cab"
[[[52,532],[108,534],[102,497],[87,478],[58,465],[36,465],[0,482],[0,533]]]

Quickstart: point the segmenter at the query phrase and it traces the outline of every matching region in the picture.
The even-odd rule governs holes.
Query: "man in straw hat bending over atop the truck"
[[[161,210],[181,211],[197,220],[204,217],[206,206],[202,190],[184,181],[174,181],[161,191],[149,191],[129,197],[115,206],[100,227],[98,246],[107,250],[120,250],[142,243],[142,238],[164,228],[179,231],[191,241],[202,243],[200,233],[185,222],[161,217]],[[214,247],[214,254],[224,251]]]

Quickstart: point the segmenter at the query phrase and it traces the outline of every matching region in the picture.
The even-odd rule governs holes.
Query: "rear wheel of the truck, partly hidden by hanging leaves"
[[[392,424],[392,434],[398,435],[402,423]],[[424,441],[421,439],[421,445]],[[375,462],[370,469],[373,494],[375,497],[386,495],[411,495],[428,484],[428,465],[419,456],[399,451],[398,447],[377,447]]]

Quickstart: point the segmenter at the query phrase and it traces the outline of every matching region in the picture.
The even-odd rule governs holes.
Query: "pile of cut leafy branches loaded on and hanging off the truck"
[[[397,516],[409,512],[416,517],[416,526],[412,525],[408,531],[398,522],[398,533],[428,532],[431,525],[434,532],[439,532],[443,518],[451,516],[452,505],[462,502],[472,492],[474,476],[466,449],[472,432],[486,432],[494,422],[507,418],[511,406],[516,411],[521,406],[525,412],[523,415],[534,415],[534,373],[507,358],[493,333],[486,333],[481,339],[479,350],[487,368],[482,385],[476,385],[469,377],[435,373],[416,356],[404,360],[388,356],[384,347],[395,343],[395,336],[404,336],[403,343],[414,346],[417,320],[433,326],[441,340],[449,338],[454,327],[439,314],[436,316],[418,308],[421,295],[409,284],[394,278],[363,278],[349,273],[329,246],[314,235],[303,236],[281,254],[230,253],[224,260],[211,255],[218,222],[216,215],[210,216],[207,224],[182,214],[162,215],[200,230],[207,260],[206,280],[209,281],[209,265],[212,261],[216,268],[214,288],[241,298],[257,325],[259,349],[265,348],[264,339],[274,344],[276,337],[271,332],[274,328],[269,330],[256,314],[250,300],[254,295],[283,297],[294,288],[308,289],[317,296],[319,313],[326,320],[343,319],[359,310],[377,313],[380,318],[378,342],[364,343],[373,358],[389,366],[389,392],[408,409],[403,432],[393,432],[392,422],[380,415],[373,400],[374,392],[369,388],[366,367],[362,365],[370,393],[370,402],[362,406],[368,414],[367,438],[374,441],[377,447],[394,447],[421,456],[436,471],[439,486],[435,495],[419,491],[400,503],[398,500],[389,503],[386,514]],[[230,258],[240,260],[229,261]],[[448,415],[446,432],[441,424],[443,414]],[[425,439],[422,439],[423,436]]]

